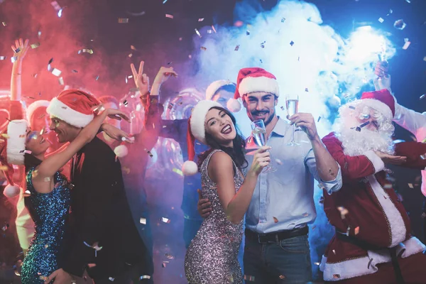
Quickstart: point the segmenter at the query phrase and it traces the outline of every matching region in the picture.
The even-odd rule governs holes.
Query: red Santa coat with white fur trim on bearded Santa
[[[396,246],[397,255],[407,258],[426,249],[410,235],[410,219],[402,202],[386,180],[385,165],[373,151],[364,155],[344,154],[342,142],[329,133],[322,141],[342,168],[343,186],[338,192],[324,192],[324,211],[336,234],[346,234],[381,248]],[[399,143],[395,155],[407,156],[403,165],[424,169],[426,144]],[[347,210],[347,211],[346,211]],[[324,280],[337,281],[378,271],[378,263],[391,262],[388,249],[367,251],[334,236],[322,258]]]

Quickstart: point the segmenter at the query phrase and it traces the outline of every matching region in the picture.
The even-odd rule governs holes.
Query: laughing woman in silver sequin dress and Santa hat
[[[257,177],[270,157],[268,147],[260,148],[244,178],[245,142],[235,125],[234,116],[217,102],[201,101],[192,110],[188,153],[192,160],[195,138],[210,146],[200,155],[199,168],[201,194],[212,202],[212,213],[204,219],[185,255],[185,274],[190,284],[243,283],[237,257],[244,214]],[[191,163],[185,162],[184,173],[191,172],[191,166],[195,166]]]

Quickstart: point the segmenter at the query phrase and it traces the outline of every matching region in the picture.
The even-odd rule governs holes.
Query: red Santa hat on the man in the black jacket
[[[80,89],[67,89],[50,101],[46,111],[50,116],[82,128],[94,119],[93,109],[99,104],[92,94]]]

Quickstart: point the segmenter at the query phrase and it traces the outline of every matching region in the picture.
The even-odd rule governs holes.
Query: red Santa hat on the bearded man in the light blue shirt
[[[258,67],[239,70],[234,99],[230,99],[226,107],[232,112],[240,111],[241,104],[238,99],[253,92],[267,92],[279,97],[277,78],[270,72]]]

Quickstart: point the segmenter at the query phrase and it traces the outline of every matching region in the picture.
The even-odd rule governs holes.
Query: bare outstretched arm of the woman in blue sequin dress
[[[60,168],[71,160],[73,155],[80,151],[84,145],[92,141],[107,116],[120,116],[129,120],[122,111],[117,109],[106,109],[101,114],[97,115],[86,127],[84,127],[84,129],[82,129],[82,131],[80,131],[74,141],[64,148],[63,151],[49,155],[48,158],[38,165],[38,174],[33,178],[34,188],[36,191],[39,192],[40,189],[42,191],[50,191],[50,188],[39,187],[38,185],[40,184],[38,182],[43,182],[45,178],[53,177]]]

